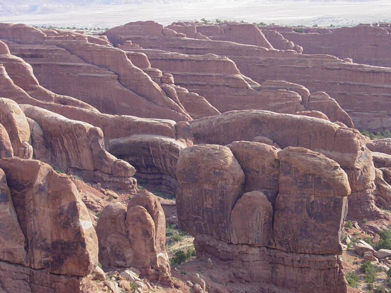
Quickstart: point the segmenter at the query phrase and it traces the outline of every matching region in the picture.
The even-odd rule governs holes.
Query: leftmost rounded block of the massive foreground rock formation
[[[241,196],[243,171],[225,146],[189,146],[176,166],[176,209],[181,228],[230,241],[229,218]]]

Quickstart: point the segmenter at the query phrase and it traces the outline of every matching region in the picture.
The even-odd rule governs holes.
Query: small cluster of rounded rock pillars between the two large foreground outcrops
[[[170,277],[164,211],[151,192],[139,191],[128,208],[120,203],[106,206],[96,231],[105,268],[136,267],[154,280]]]

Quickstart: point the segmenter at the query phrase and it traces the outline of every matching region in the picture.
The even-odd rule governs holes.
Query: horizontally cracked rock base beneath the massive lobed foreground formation
[[[253,292],[347,292],[342,263],[336,255],[235,245],[207,235],[196,236],[194,244],[198,257],[223,260],[223,268],[232,272],[233,280],[246,287],[257,282]]]

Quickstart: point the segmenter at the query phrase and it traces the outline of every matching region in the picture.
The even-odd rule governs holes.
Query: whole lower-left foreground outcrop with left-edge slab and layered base
[[[2,158],[0,168],[2,289],[81,292],[98,243],[76,187],[40,161]]]

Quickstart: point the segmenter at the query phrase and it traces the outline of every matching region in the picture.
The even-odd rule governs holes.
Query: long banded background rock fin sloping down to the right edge
[[[113,43],[132,40],[145,49],[227,56],[241,74],[259,84],[265,80],[284,80],[302,84],[311,92],[326,91],[348,112],[359,129],[384,131],[391,128],[389,105],[384,99],[390,95],[390,89],[378,86],[390,84],[390,68],[350,63],[329,55],[305,55],[234,42],[142,35],[140,25],[140,22],[128,23],[108,30],[105,35]],[[340,83],[341,80],[344,83]]]

